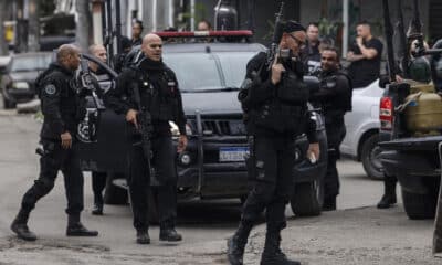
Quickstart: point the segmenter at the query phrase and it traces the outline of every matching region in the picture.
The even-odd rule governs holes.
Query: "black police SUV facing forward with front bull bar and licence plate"
[[[244,155],[249,149],[238,92],[246,63],[261,51],[265,51],[263,45],[246,42],[164,45],[164,61],[177,74],[188,119],[189,145],[186,152],[177,155],[179,200],[245,199],[249,187]],[[122,171],[125,168],[125,119],[108,109],[98,113],[97,141],[81,144],[83,166],[85,169]],[[320,214],[323,203],[326,134],[319,113],[311,109],[311,117],[317,121],[322,155],[318,162],[312,165],[305,157],[306,136],[296,139],[293,158],[296,160],[293,169],[296,188],[292,209],[298,215]],[[171,129],[177,136],[173,124]]]

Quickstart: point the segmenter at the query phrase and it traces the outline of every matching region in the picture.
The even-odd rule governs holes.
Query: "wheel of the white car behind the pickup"
[[[383,169],[379,159],[381,148],[378,146],[379,135],[375,134],[362,142],[361,160],[364,170],[370,179],[382,180]]]

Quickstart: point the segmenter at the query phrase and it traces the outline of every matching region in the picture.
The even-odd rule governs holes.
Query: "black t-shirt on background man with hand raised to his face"
[[[354,87],[365,87],[379,77],[383,44],[378,39],[371,38],[369,41],[364,41],[364,45],[367,49],[375,49],[378,54],[370,60],[362,59],[350,64],[349,75]],[[350,51],[355,54],[361,54],[356,43],[350,47]]]

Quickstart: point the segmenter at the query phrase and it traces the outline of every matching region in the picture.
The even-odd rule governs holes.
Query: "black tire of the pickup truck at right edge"
[[[402,189],[403,208],[409,219],[434,219],[438,205],[439,181],[432,180],[429,182],[431,183],[428,184],[429,193],[427,194],[412,193]]]

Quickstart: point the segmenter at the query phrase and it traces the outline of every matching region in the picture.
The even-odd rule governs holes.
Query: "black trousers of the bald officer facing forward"
[[[176,150],[170,136],[151,139],[152,161],[158,186],[150,189],[150,176],[147,160],[143,153],[140,142],[134,142],[129,151],[129,194],[134,212],[134,227],[147,230],[149,194],[157,203],[159,223],[161,227],[175,226],[177,218],[177,171],[175,166]]]

